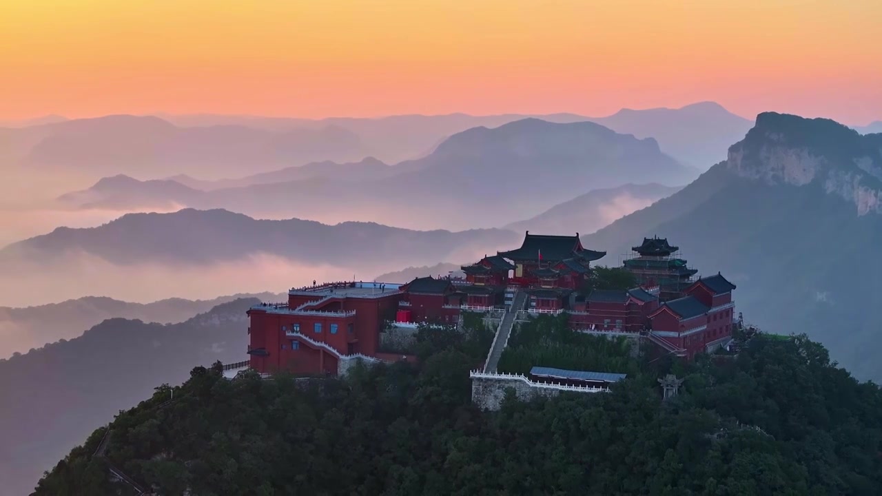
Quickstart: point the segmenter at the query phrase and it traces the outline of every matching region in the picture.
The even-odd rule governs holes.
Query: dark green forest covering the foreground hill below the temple
[[[420,366],[345,380],[191,379],[122,412],[35,495],[126,494],[107,463],[159,494],[882,493],[882,392],[804,336],[752,339],[737,357],[658,360],[610,394],[563,394],[497,412],[470,402],[465,341],[423,342]],[[674,369],[681,394],[655,379]]]

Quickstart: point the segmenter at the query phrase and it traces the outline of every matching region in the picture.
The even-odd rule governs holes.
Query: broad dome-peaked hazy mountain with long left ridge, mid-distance
[[[323,168],[331,172],[313,175]],[[349,170],[355,172],[345,172]],[[298,174],[303,178],[273,182]],[[104,191],[96,184],[64,199],[69,205],[71,199],[88,199],[80,207],[144,208],[149,199],[151,207],[226,208],[322,222],[470,229],[530,217],[561,199],[634,178],[676,185],[697,174],[662,154],[653,139],[635,139],[594,123],[554,124],[531,118],[454,134],[431,154],[391,167],[363,161],[316,165],[306,172],[286,169],[245,178],[239,187],[205,193],[161,183],[145,183],[143,192],[135,192],[132,188],[137,185],[125,181],[119,192]],[[270,182],[247,185],[263,181]],[[160,198],[158,192],[167,196]]]

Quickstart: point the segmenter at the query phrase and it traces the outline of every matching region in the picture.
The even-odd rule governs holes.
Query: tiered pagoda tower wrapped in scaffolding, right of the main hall
[[[632,257],[624,260],[624,268],[634,274],[640,287],[658,288],[662,301],[683,297],[698,273],[679,258],[680,248],[669,244],[668,238],[645,237],[643,244],[632,247],[632,251]]]

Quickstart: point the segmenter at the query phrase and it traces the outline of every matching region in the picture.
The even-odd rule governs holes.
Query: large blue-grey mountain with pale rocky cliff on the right
[[[668,237],[699,274],[738,284],[738,310],[760,327],[807,332],[858,377],[882,379],[882,135],[827,119],[757,117],[729,158],[651,207],[584,237],[625,253]]]

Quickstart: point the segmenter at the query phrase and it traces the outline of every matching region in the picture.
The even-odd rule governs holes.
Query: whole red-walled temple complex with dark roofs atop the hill
[[[659,353],[687,359],[731,341],[735,284],[719,273],[696,280],[697,271],[664,238],[644,238],[633,251],[636,256],[624,261],[638,282],[630,289],[590,289],[590,264],[606,252],[583,247],[578,233],[529,231],[519,248],[463,266],[465,280],[418,277],[405,283],[335,282],[290,289],[287,302],[259,304],[248,312],[250,368],[335,375],[355,359],[412,360],[384,353],[381,334],[391,327],[415,332],[420,323],[457,325],[464,312],[496,319],[497,333],[511,333],[516,322],[530,316],[566,313],[579,332],[631,335],[653,342]],[[504,348],[507,340],[500,341]],[[498,359],[502,350],[490,351],[489,357]],[[533,379],[554,377],[573,387],[592,382],[572,371],[549,370],[534,371]],[[601,379],[594,383],[615,379],[596,377]]]

